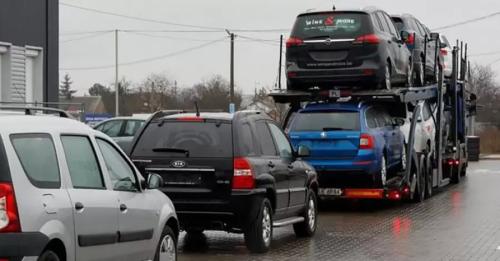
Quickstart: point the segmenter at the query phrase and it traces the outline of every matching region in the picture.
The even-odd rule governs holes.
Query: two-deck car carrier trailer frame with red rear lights
[[[466,97],[468,62],[463,44],[453,49],[453,75],[444,79],[439,70],[436,84],[423,87],[395,88],[391,90],[353,90],[319,88],[308,91],[275,90],[270,96],[277,103],[286,103],[290,111],[297,111],[309,102],[342,102],[342,100],[369,101],[382,106],[390,106],[394,117],[405,117],[408,104],[417,105],[412,113],[409,140],[406,141],[406,169],[389,179],[382,188],[345,188],[341,198],[352,199],[408,199],[420,202],[431,197],[433,191],[450,183],[460,182],[465,176],[467,160],[466,117],[471,102]],[[460,53],[460,54],[459,54]],[[465,55],[464,55],[465,54]],[[473,95],[471,95],[473,97]],[[422,110],[419,101],[435,108],[433,120],[436,126],[435,146],[433,151],[418,153],[414,149],[415,127]],[[290,120],[291,113],[283,120],[284,126]]]

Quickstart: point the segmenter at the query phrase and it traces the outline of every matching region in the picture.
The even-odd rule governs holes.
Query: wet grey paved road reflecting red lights
[[[243,236],[181,235],[187,260],[500,260],[500,161],[471,163],[467,178],[421,204],[336,202],[314,238],[275,229],[272,249],[250,254]]]

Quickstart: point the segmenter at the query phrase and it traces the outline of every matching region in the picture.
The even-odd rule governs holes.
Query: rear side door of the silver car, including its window
[[[96,152],[88,136],[63,135],[64,171],[76,236],[76,260],[119,260],[118,197],[108,190]]]

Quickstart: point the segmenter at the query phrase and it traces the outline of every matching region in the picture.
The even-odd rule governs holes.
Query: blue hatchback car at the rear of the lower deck
[[[342,196],[346,188],[383,188],[405,168],[400,124],[368,103],[313,103],[290,117],[287,132],[294,147],[310,149],[320,196]]]

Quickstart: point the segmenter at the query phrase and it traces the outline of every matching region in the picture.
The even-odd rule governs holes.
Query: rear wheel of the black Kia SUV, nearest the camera
[[[269,200],[264,198],[260,203],[257,218],[245,229],[245,244],[253,253],[265,253],[271,247],[272,238],[272,208]]]

